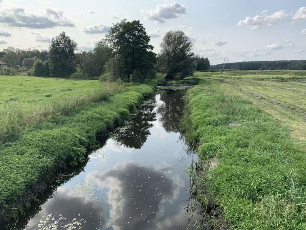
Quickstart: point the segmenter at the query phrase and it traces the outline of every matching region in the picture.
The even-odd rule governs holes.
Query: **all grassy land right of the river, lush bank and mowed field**
[[[196,73],[181,122],[200,156],[190,193],[217,229],[305,229],[306,80],[259,72]]]

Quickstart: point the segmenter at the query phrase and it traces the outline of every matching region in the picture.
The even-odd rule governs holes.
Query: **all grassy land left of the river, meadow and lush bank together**
[[[152,81],[0,80],[0,124],[6,128],[0,133],[0,222],[22,214],[63,168],[83,162],[97,138],[129,119],[156,87]]]

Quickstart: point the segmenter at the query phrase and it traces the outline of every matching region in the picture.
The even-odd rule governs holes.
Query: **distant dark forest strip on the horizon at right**
[[[223,64],[211,65],[211,69],[223,69]],[[306,60],[251,61],[226,63],[227,70],[306,70]]]

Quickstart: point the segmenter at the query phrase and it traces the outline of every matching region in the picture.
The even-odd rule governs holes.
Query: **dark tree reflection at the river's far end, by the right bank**
[[[184,113],[184,93],[182,90],[160,92],[160,100],[164,103],[158,107],[157,112],[161,115],[160,121],[166,132],[180,132],[180,120]]]

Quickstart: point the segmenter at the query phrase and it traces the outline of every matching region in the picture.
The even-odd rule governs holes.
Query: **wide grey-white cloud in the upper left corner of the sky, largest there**
[[[0,23],[10,27],[34,29],[55,28],[58,26],[74,27],[61,10],[47,8],[41,15],[26,13],[23,8],[13,8],[0,12]]]

